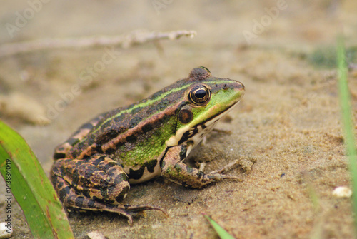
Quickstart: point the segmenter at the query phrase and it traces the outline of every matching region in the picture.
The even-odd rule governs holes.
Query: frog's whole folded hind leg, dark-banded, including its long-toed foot
[[[167,215],[154,205],[119,204],[129,193],[129,178],[116,161],[106,156],[59,159],[51,170],[51,180],[66,208],[118,213],[125,215],[130,225],[131,215],[144,210],[161,210]]]

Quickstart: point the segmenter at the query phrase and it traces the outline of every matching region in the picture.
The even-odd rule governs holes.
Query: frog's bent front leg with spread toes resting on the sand
[[[237,164],[237,161],[229,163],[227,166],[213,171],[211,173],[203,173],[197,168],[191,168],[183,163],[186,158],[187,145],[174,146],[169,148],[161,163],[161,175],[174,183],[180,185],[191,186],[192,188],[201,188],[209,183],[216,182],[222,179],[236,179],[236,176],[229,176],[222,174],[229,168]]]

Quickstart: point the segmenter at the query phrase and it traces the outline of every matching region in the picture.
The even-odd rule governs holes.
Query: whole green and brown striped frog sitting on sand
[[[84,123],[57,146],[50,178],[67,210],[132,215],[166,210],[156,205],[121,203],[130,185],[162,176],[189,188],[237,180],[226,171],[204,173],[184,163],[216,123],[241,101],[243,83],[213,77],[206,67],[130,106],[115,108]]]

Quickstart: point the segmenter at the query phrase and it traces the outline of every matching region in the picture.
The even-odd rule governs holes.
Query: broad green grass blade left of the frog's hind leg
[[[74,238],[61,202],[36,156],[24,138],[1,121],[0,172],[6,188],[11,188],[11,192],[4,188],[1,193],[14,195],[34,238]]]

